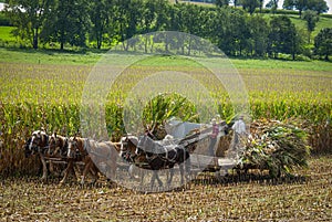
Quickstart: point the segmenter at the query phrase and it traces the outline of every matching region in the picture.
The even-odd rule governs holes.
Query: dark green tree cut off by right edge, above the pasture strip
[[[329,61],[329,56],[332,55],[332,28],[322,29],[314,38],[314,53]]]

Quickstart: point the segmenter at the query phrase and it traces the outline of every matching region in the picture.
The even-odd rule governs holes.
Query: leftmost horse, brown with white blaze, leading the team
[[[46,150],[49,149],[49,135],[43,130],[33,131],[23,148],[27,158],[34,154],[38,154],[40,156],[40,160],[43,167],[43,175],[41,180],[45,180],[48,178],[48,166],[44,156]]]

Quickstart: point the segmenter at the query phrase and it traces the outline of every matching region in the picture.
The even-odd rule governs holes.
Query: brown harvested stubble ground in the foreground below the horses
[[[0,181],[0,221],[332,221],[332,157],[279,181],[204,175],[190,187],[142,193],[98,182]]]

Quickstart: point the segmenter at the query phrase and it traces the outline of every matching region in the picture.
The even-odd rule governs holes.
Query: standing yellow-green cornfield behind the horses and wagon
[[[148,64],[151,72],[162,70],[163,63],[169,63],[169,57],[157,57],[156,61],[151,61]],[[85,65],[1,63],[1,176],[37,172],[38,161],[25,159],[22,151],[24,140],[31,131],[43,128],[50,134],[56,131],[64,136],[80,134],[82,91],[91,68]],[[132,75],[131,73],[123,75],[116,88],[112,88],[107,96],[105,119],[112,140],[118,140],[125,133],[124,99],[127,89],[135,83],[134,71],[136,75],[142,74],[138,65],[131,68]],[[209,77],[206,73],[201,73],[200,67],[190,68],[190,72],[199,74],[199,77],[206,81],[205,84],[209,85],[211,96],[218,101],[218,114],[221,118],[231,118],[234,109],[225,89],[214,85],[212,80],[207,80]],[[241,68],[239,72],[249,93],[252,119],[294,119],[293,125],[309,133],[309,145],[313,147],[313,154],[331,152],[331,73],[248,68]],[[189,89],[193,88],[188,86]],[[152,125],[154,121],[162,123],[170,115],[180,115],[184,120],[199,121],[195,105],[183,97],[170,95],[162,96],[160,99],[162,105],[158,104],[160,101],[146,105],[144,114],[146,125]],[[167,106],[170,112],[160,113],[163,106]]]

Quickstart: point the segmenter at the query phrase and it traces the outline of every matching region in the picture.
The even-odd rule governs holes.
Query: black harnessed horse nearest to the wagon
[[[189,151],[186,150],[186,148],[181,145],[174,145],[172,142],[172,136],[166,136],[166,139],[164,141],[154,141],[148,136],[143,136],[138,140],[135,154],[145,154],[147,163],[149,168],[154,171],[151,181],[151,187],[154,186],[155,179],[157,179],[159,186],[163,186],[163,182],[160,181],[157,175],[157,170],[162,169],[169,169],[170,177],[167,181],[167,184],[169,186],[173,180],[175,165],[179,166],[181,184],[184,184],[185,170],[188,175],[190,175]]]

